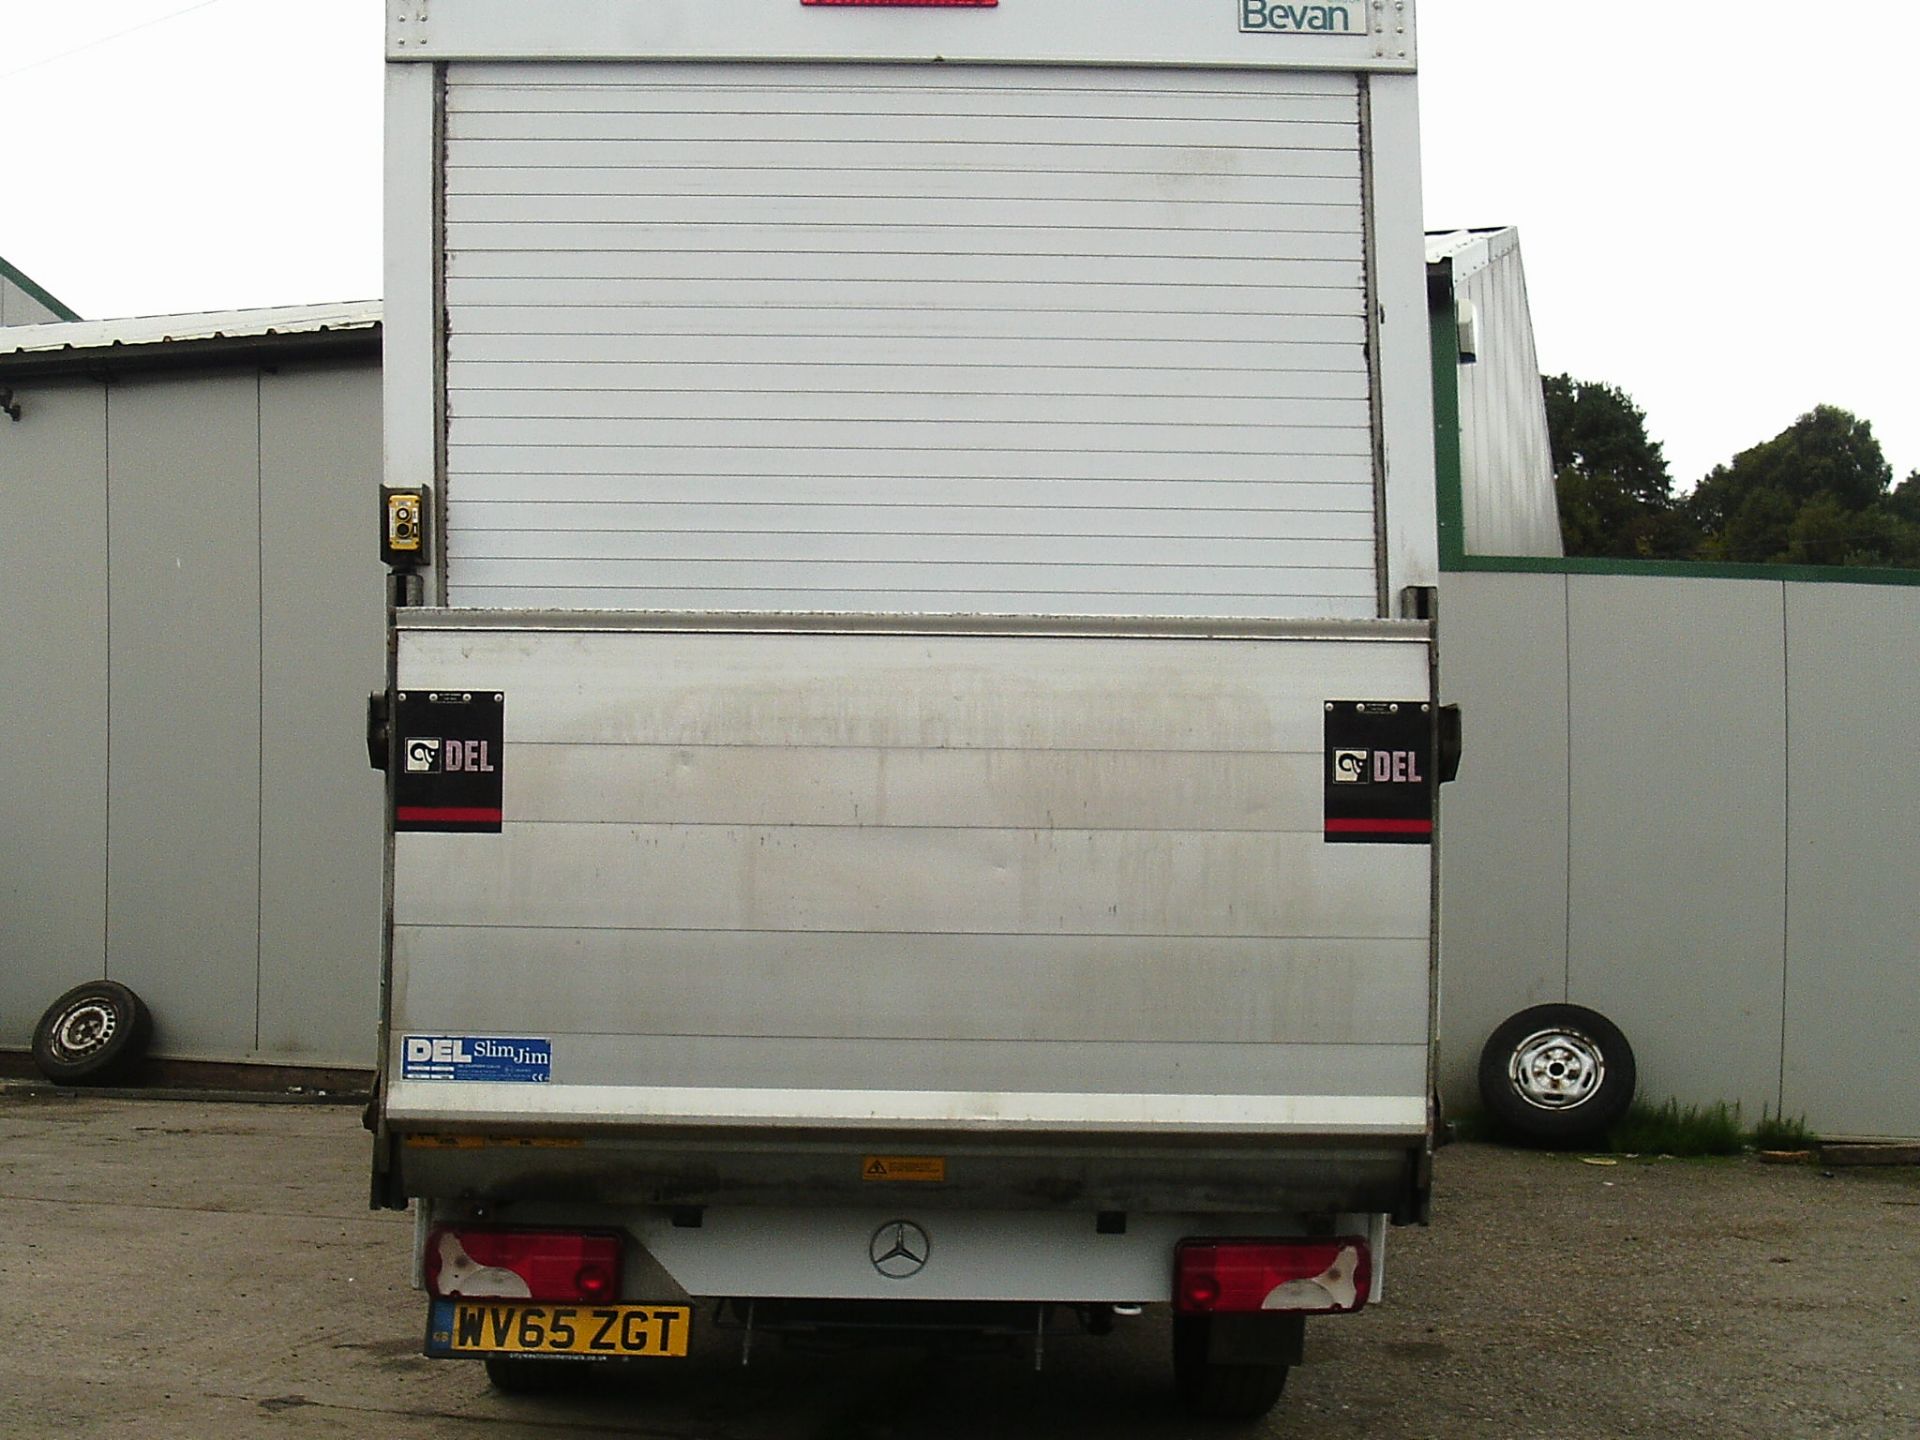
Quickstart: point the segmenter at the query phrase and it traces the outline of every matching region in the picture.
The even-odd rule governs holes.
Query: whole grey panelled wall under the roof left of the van
[[[106,975],[159,1056],[371,1064],[378,365],[13,384],[0,1046]]]

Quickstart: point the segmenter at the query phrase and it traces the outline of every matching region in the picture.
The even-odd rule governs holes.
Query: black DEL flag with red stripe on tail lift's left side
[[[497,835],[507,697],[405,689],[394,707],[394,829]]]

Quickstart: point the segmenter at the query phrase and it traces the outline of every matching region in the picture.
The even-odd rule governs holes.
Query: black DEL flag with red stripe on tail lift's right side
[[[1427,701],[1327,701],[1327,843],[1432,845]]]

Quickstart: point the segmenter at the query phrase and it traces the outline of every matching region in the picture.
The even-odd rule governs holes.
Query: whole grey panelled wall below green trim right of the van
[[[1920,1133],[1920,588],[1450,574],[1442,1058],[1542,1000],[1642,1094]]]

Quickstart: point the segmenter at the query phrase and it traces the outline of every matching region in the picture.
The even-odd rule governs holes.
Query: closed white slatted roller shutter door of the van
[[[453,65],[453,605],[1377,612],[1354,75]]]

